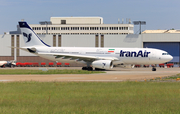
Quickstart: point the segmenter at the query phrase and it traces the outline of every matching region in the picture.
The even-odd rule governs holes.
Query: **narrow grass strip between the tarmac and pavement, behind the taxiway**
[[[6,74],[94,74],[105,73],[101,71],[86,71],[86,70],[28,70],[28,69],[0,69],[0,75]]]

